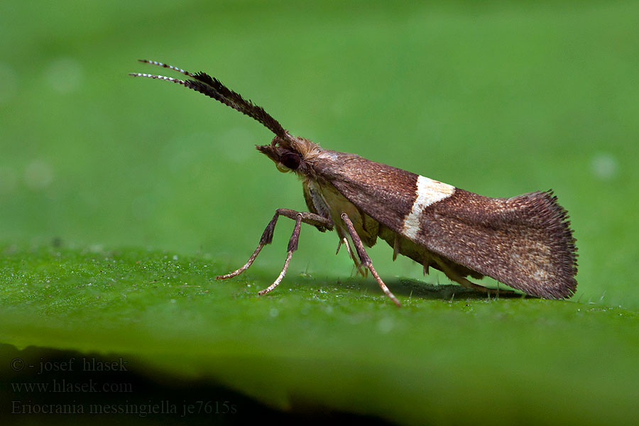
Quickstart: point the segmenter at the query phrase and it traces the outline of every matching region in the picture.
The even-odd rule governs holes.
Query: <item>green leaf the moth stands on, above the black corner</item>
[[[141,249],[6,248],[0,342],[124,357],[138,373],[221,384],[281,410],[403,424],[638,414],[637,312],[388,280],[398,309],[371,279],[293,273],[258,297],[273,277],[253,267],[214,280],[229,269]]]

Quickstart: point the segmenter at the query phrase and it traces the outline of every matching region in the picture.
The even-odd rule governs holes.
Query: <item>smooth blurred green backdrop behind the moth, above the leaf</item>
[[[271,134],[173,84],[205,70],[292,133],[482,195],[552,188],[581,300],[639,307],[639,6],[632,1],[46,1],[0,6],[0,241],[143,246],[243,263],[300,182]],[[258,268],[277,273],[280,224]],[[348,276],[304,229],[292,271]],[[382,275],[418,278],[391,249]],[[433,278],[432,280],[437,280]],[[445,278],[440,278],[447,282]]]

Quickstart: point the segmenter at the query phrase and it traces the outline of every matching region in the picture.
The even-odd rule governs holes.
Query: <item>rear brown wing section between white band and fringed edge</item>
[[[577,249],[552,192],[491,198],[455,189],[424,209],[415,242],[510,287],[540,297],[577,288]]]

